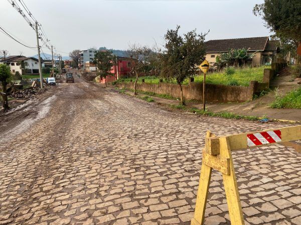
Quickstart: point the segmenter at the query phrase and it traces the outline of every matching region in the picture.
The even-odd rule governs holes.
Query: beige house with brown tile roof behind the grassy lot
[[[208,40],[204,44],[206,59],[210,65],[214,65],[216,56],[228,52],[229,49],[238,48],[245,48],[248,53],[253,55],[251,60],[253,66],[270,64],[278,50],[277,41],[270,40],[268,36]]]

